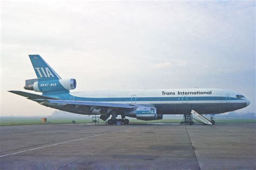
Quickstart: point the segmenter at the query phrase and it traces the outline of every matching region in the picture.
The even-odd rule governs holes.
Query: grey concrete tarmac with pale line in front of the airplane
[[[256,169],[256,124],[0,127],[0,169]]]

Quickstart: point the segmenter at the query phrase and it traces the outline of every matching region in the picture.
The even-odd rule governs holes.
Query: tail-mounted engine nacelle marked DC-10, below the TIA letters
[[[38,79],[26,80],[24,89],[37,92],[73,90],[77,87],[76,79],[59,79],[38,81]]]

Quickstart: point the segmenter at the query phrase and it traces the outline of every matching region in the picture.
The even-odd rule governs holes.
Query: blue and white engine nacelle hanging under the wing
[[[157,119],[157,108],[138,107],[136,109],[136,117],[143,121],[152,121]]]

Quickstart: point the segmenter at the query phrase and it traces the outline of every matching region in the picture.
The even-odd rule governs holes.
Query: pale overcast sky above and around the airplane
[[[255,112],[255,2],[2,2],[1,115],[55,109],[10,94],[40,54],[76,90],[223,88]]]

